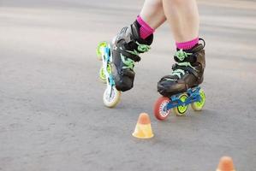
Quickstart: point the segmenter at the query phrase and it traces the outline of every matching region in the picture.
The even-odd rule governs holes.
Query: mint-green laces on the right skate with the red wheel
[[[180,61],[184,61],[184,59],[188,56],[192,55],[192,53],[188,53],[186,51],[183,50],[178,50],[176,51],[175,56],[180,60]],[[190,64],[190,62],[178,62],[176,63],[176,65],[181,66],[181,67],[190,67],[193,68],[192,65]],[[193,68],[194,69],[194,68]],[[173,70],[171,72],[170,75],[176,75],[179,79],[182,78],[182,75],[185,74],[185,71],[183,69],[180,68],[176,68],[175,70]],[[174,79],[167,79],[167,80],[174,80]]]

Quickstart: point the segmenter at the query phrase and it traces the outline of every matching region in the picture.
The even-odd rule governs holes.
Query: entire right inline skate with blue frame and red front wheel
[[[172,73],[158,82],[158,92],[163,97],[155,103],[154,113],[158,120],[164,120],[173,109],[176,115],[185,115],[188,105],[201,110],[205,105],[205,92],[199,87],[204,80],[205,41],[191,50],[177,50]]]

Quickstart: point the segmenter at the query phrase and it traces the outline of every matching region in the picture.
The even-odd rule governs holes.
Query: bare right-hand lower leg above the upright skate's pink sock
[[[163,0],[163,5],[176,42],[186,42],[199,36],[196,0]]]

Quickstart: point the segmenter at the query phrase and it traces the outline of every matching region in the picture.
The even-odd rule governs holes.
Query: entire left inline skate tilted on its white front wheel
[[[134,62],[140,62],[140,54],[150,50],[153,35],[140,38],[140,24],[134,21],[113,38],[111,44],[98,44],[97,55],[103,61],[99,70],[100,80],[107,83],[104,91],[104,104],[114,107],[119,102],[121,91],[128,91],[134,86]]]

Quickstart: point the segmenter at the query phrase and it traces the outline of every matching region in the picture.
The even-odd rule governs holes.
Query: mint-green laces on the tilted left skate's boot
[[[148,50],[151,49],[151,47],[147,44],[140,44],[139,42],[136,42],[136,44],[138,44],[138,50],[134,50],[134,51],[131,51],[131,50],[126,50],[128,51],[129,53],[135,55],[135,56],[139,56],[140,53],[144,53],[144,52],[147,52]],[[134,60],[128,58],[128,57],[125,57],[125,56],[122,56],[121,55],[121,59],[122,59],[122,62],[124,63],[125,66],[123,66],[122,68],[130,68],[130,69],[134,69]]]

